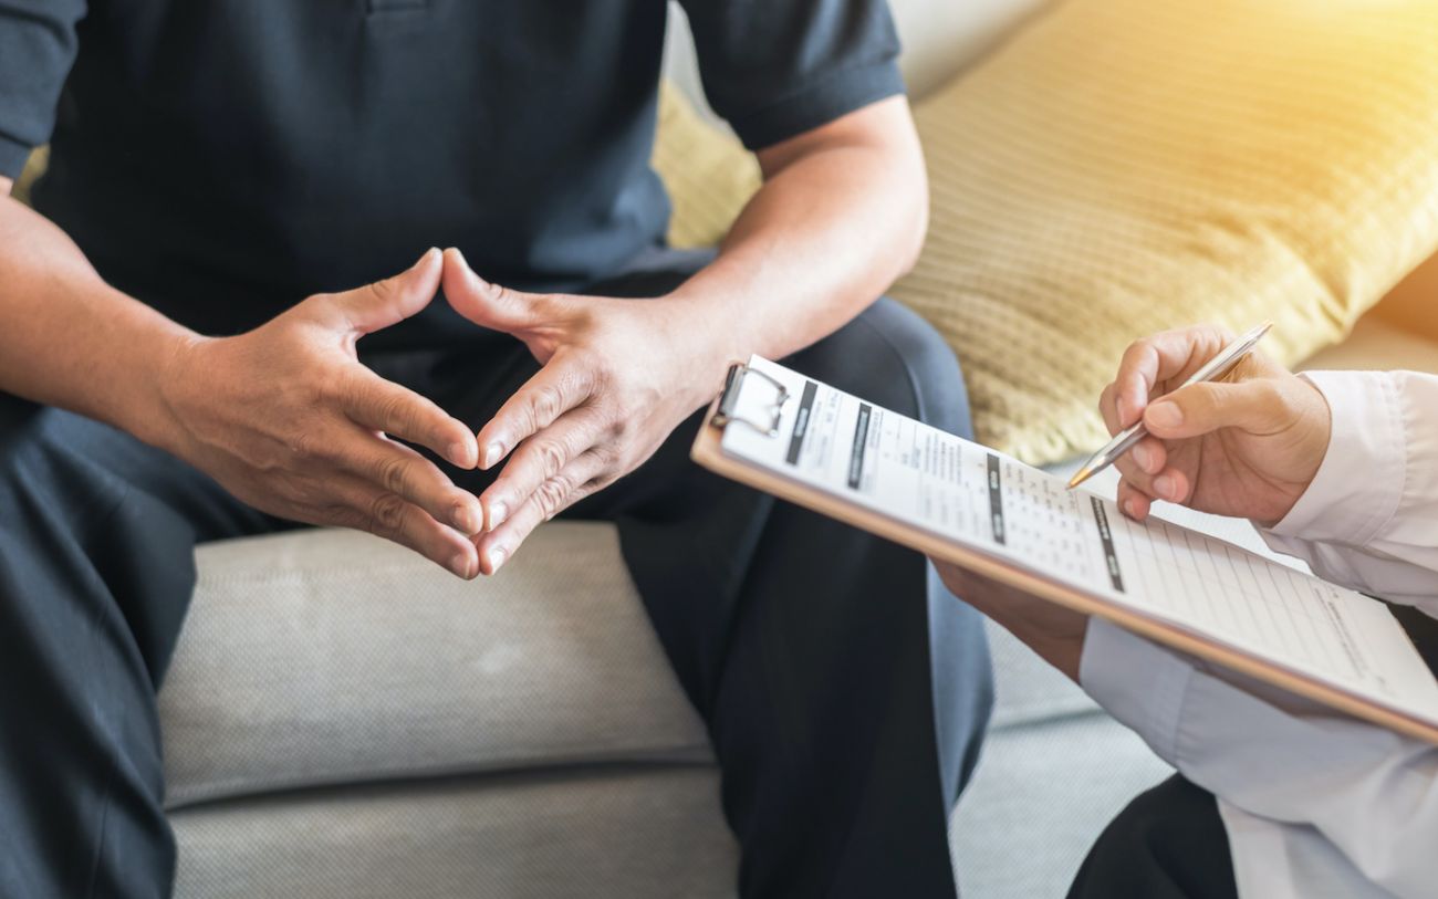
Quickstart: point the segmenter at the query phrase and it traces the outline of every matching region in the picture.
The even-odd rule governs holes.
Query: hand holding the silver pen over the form
[[[1224,381],[1178,388],[1231,339],[1199,325],[1146,337],[1123,354],[1099,411],[1110,434],[1140,417],[1150,434],[1114,463],[1129,516],[1142,521],[1163,499],[1273,525],[1317,473],[1330,413],[1309,381],[1255,351]]]

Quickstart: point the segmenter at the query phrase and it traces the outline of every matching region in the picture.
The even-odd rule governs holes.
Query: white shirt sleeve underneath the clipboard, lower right
[[[1314,829],[1369,882],[1431,896],[1438,747],[1201,665],[1093,619],[1080,682],[1183,777]]]

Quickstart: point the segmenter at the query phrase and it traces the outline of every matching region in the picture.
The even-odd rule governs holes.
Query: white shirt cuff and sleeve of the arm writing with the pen
[[[1264,541],[1324,580],[1438,617],[1438,375],[1316,371],[1333,414],[1319,472]]]

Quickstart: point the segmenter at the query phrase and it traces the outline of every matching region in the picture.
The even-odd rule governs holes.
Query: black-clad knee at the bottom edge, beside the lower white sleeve
[[[1093,844],[1068,899],[1238,899],[1214,795],[1173,775],[1140,794]]]

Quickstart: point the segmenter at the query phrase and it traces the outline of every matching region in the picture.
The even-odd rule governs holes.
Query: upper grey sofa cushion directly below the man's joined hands
[[[703,761],[705,728],[607,525],[472,583],[352,531],[198,549],[160,696],[168,803],[597,761]]]

